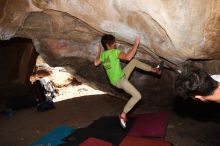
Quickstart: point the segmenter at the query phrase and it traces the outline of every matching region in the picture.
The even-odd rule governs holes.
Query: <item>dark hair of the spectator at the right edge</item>
[[[218,82],[201,69],[186,70],[176,78],[175,89],[184,99],[196,95],[212,95]]]

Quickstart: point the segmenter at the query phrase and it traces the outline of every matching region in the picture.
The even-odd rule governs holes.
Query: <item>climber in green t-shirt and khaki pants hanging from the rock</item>
[[[156,74],[161,74],[160,68],[153,68],[145,63],[133,59],[139,43],[140,37],[136,37],[133,47],[126,53],[121,52],[118,48],[116,48],[115,37],[110,34],[105,34],[101,38],[101,44],[104,48],[104,51],[101,51],[100,45],[96,46],[97,54],[94,61],[95,66],[98,66],[102,63],[110,83],[117,88],[123,89],[132,96],[126,103],[122,113],[119,115],[122,128],[126,128],[127,113],[141,99],[140,92],[128,81],[132,71],[135,69],[135,67],[137,67],[144,71],[151,71]],[[127,60],[130,62],[122,69],[120,60]]]

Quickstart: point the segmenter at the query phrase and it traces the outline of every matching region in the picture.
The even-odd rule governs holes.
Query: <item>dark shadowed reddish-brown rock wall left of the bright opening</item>
[[[1,98],[27,95],[37,56],[30,39],[0,41]]]

